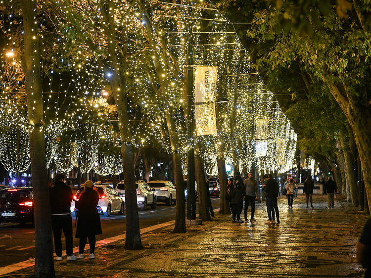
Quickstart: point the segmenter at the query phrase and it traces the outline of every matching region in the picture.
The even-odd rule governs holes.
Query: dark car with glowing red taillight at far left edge
[[[0,223],[34,223],[32,187],[12,187],[0,190]]]

